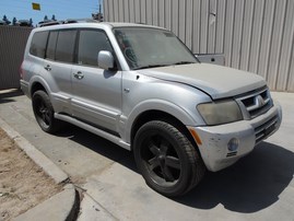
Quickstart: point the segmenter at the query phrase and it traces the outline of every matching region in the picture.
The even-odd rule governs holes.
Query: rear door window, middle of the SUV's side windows
[[[73,61],[75,36],[77,31],[74,30],[59,31],[55,51],[56,60],[64,62]]]

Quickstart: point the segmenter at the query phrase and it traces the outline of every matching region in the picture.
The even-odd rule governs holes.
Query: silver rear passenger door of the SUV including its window
[[[77,30],[51,31],[44,69],[51,88],[51,101],[57,113],[71,114],[71,69],[74,59]]]

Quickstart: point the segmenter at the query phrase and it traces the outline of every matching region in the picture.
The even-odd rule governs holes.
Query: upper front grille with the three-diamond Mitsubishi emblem
[[[247,119],[252,119],[272,107],[272,100],[268,88],[242,96],[237,101],[239,105],[245,107],[246,113],[244,114]]]

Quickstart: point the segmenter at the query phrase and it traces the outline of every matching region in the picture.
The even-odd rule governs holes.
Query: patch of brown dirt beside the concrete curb
[[[11,220],[61,189],[0,128],[0,220]]]

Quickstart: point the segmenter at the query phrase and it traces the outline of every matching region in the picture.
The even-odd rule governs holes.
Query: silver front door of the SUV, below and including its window
[[[80,30],[72,68],[72,112],[82,121],[117,135],[121,113],[121,71],[98,68],[101,50],[113,51],[104,31]]]

